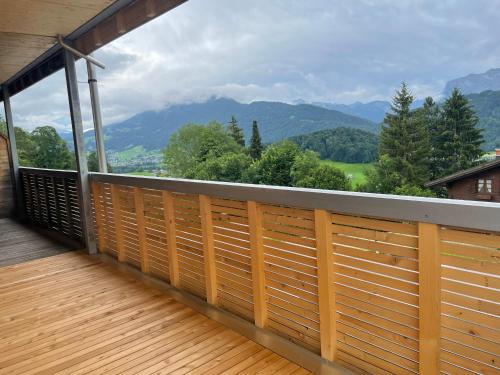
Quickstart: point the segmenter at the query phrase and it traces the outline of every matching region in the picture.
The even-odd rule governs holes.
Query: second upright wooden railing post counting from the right
[[[318,264],[319,328],[321,356],[335,360],[337,351],[337,328],[335,293],[333,290],[333,236],[331,214],[325,210],[314,210],[316,249]]]

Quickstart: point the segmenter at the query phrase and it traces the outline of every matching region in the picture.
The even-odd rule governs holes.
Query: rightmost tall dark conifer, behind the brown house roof
[[[458,89],[443,104],[435,143],[436,178],[470,168],[483,151],[482,130],[468,99]]]

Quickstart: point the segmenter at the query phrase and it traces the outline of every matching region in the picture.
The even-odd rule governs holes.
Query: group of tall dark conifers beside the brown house
[[[378,161],[359,190],[404,195],[441,195],[424,184],[474,166],[482,156],[482,130],[468,99],[453,90],[439,106],[431,97],[411,110],[413,95],[403,83],[380,133]]]

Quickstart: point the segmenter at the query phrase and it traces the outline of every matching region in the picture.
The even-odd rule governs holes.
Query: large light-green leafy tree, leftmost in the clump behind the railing
[[[238,152],[243,152],[243,148],[221,124],[187,124],[170,137],[164,162],[169,176],[186,177],[199,163]]]

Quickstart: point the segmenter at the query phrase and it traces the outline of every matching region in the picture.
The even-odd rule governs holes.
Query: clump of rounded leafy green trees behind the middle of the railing
[[[244,182],[319,189],[350,190],[350,179],[338,168],[322,163],[313,151],[290,141],[264,147],[257,121],[250,144],[232,117],[228,126],[187,124],[175,132],[164,150],[171,177]]]

